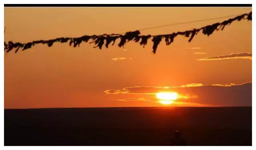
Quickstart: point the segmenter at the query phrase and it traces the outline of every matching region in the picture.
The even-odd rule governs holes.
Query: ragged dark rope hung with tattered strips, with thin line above
[[[225,17],[218,17],[218,18],[208,18],[208,19],[204,19],[204,20],[196,20],[196,21],[191,21],[191,22],[199,22],[199,21],[205,21],[205,20],[213,20],[213,19],[219,19],[219,18],[226,18],[229,16],[225,16]],[[23,48],[22,51],[26,50],[26,49],[30,49],[32,46],[35,46],[37,44],[47,44],[48,47],[51,47],[54,43],[56,42],[60,42],[60,43],[67,43],[69,42],[69,45],[73,45],[73,47],[79,47],[79,45],[83,42],[85,43],[94,43],[94,48],[99,47],[99,49],[102,49],[103,44],[105,44],[106,48],[108,48],[108,45],[110,43],[112,43],[112,45],[114,45],[116,39],[120,39],[120,43],[118,44],[119,47],[122,47],[125,45],[125,43],[127,43],[128,41],[134,41],[134,42],[138,42],[140,43],[140,45],[143,45],[143,47],[145,45],[147,45],[147,41],[152,38],[152,42],[153,42],[153,53],[156,53],[156,49],[159,45],[159,43],[162,41],[162,39],[164,39],[166,45],[170,45],[173,41],[174,38],[176,36],[185,36],[187,38],[190,38],[188,41],[190,42],[194,36],[196,36],[200,31],[202,31],[202,34],[210,36],[214,31],[218,31],[218,30],[223,30],[225,28],[225,26],[230,25],[232,22],[234,21],[240,21],[240,20],[251,20],[252,21],[252,12],[248,13],[248,14],[242,14],[240,16],[236,16],[234,18],[229,18],[228,20],[224,20],[223,22],[217,22],[214,23],[212,25],[207,25],[204,26],[202,28],[195,28],[192,30],[186,30],[183,32],[173,32],[171,34],[160,34],[160,35],[140,35],[140,30],[147,30],[150,28],[144,28],[144,29],[140,29],[140,30],[136,30],[134,32],[126,32],[124,35],[122,34],[103,34],[103,35],[92,35],[92,36],[88,36],[88,35],[84,35],[82,37],[78,37],[78,38],[65,38],[65,37],[61,37],[61,38],[56,38],[56,39],[48,39],[48,40],[36,40],[36,41],[30,41],[28,43],[20,43],[20,42],[12,42],[12,41],[8,41],[5,42],[4,41],[4,51],[6,53],[8,53],[9,51],[11,51],[12,49],[16,49],[15,53],[18,52],[19,48]],[[188,24],[191,22],[181,22],[181,23],[176,23],[176,24]],[[164,25],[164,26],[172,26],[175,24],[169,24],[169,25]],[[163,26],[157,26],[157,27],[151,27],[151,28],[160,28]],[[89,40],[92,40],[92,42],[89,42]]]

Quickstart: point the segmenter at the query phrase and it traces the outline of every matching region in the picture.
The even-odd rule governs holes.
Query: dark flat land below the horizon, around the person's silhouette
[[[5,109],[4,145],[251,146],[252,107]]]

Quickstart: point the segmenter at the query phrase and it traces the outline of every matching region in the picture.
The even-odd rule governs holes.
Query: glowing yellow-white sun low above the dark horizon
[[[160,92],[156,93],[156,98],[160,99],[160,101],[158,101],[159,103],[169,105],[173,103],[173,100],[176,100],[178,98],[178,93]]]

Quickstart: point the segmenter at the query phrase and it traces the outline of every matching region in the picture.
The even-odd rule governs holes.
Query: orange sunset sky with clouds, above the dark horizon
[[[124,33],[142,28],[249,13],[252,8],[4,8],[5,41]],[[228,18],[142,30],[191,30]],[[152,53],[129,42],[108,49],[56,43],[4,54],[4,108],[252,105],[252,22],[242,20],[192,42],[178,36]]]

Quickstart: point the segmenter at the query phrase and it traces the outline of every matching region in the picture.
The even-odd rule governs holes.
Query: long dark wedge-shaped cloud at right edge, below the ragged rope
[[[201,58],[197,60],[222,60],[222,59],[250,59],[252,60],[252,53],[231,53],[230,55],[221,55],[221,56],[215,56],[215,57],[206,57],[206,58]]]

